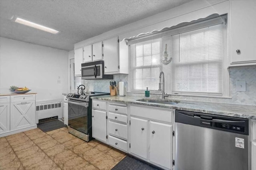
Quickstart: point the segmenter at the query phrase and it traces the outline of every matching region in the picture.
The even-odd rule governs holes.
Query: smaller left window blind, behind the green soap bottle
[[[162,70],[162,39],[132,44],[131,90],[158,90],[159,74]]]

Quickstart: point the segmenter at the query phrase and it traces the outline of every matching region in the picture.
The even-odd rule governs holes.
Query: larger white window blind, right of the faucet
[[[172,35],[172,93],[222,94],[222,24]]]

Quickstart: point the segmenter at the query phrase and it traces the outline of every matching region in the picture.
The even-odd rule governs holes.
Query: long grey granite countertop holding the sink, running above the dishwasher
[[[225,115],[232,117],[241,117],[247,119],[256,119],[256,106],[253,105],[242,105],[242,104],[228,104],[228,103],[217,103],[217,102],[201,102],[201,101],[188,101],[188,100],[178,100],[178,104],[158,104],[158,103],[148,103],[136,101],[142,99],[143,97],[136,96],[94,96],[92,99],[106,100],[110,102],[122,102],[124,104],[138,104],[144,106],[155,106],[162,108],[170,108],[177,110],[195,111],[200,113],[209,113],[214,115]],[[159,99],[159,98],[151,98]],[[176,101],[174,99],[174,101]]]

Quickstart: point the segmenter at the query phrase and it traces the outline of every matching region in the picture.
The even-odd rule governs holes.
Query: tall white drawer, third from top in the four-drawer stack
[[[113,121],[108,121],[108,133],[115,137],[120,137],[126,139],[128,137],[128,127],[127,125],[116,123]]]

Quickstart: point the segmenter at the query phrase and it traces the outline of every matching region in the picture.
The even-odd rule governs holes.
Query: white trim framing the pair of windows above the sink
[[[224,16],[225,18],[227,16]],[[226,23],[226,19],[224,17],[219,17],[219,18],[213,18],[210,20],[206,20],[206,21],[202,21],[202,22],[198,22],[195,24],[191,24],[191,25],[186,25],[184,27],[180,27],[180,28],[176,28],[176,29],[172,29],[172,30],[167,30],[167,31],[160,31],[160,32],[156,32],[156,33],[151,33],[148,36],[143,35],[142,37],[138,37],[136,39],[132,38],[132,40],[128,41],[128,45],[129,45],[129,57],[130,57],[130,61],[131,61],[131,48],[130,45],[134,44],[134,43],[140,43],[140,42],[144,42],[144,41],[150,41],[153,39],[158,39],[158,38],[163,38],[163,37],[167,37],[171,35],[175,35],[178,33],[184,33],[187,31],[193,31],[196,29],[200,29],[200,28],[204,28],[204,27],[209,27],[212,25],[217,25],[219,23],[223,23],[222,24],[222,94],[217,95],[216,93],[211,94],[211,93],[194,93],[194,92],[183,92],[183,93],[179,93],[179,94],[175,94],[172,93],[172,83],[170,84],[170,95],[178,95],[178,96],[197,96],[197,97],[213,97],[213,98],[230,98],[230,87],[229,87],[229,69],[228,69],[228,24]],[[223,20],[224,18],[224,20]],[[163,43],[163,42],[162,42]],[[131,62],[129,64],[129,74],[128,74],[128,92],[131,93],[144,93],[144,91],[135,91],[132,90],[132,81],[131,81]],[[172,69],[170,70],[171,74],[172,74]],[[170,77],[171,78],[171,77]],[[165,84],[166,87],[168,87]],[[151,94],[161,94],[161,92],[157,92],[157,91],[152,91]]]

